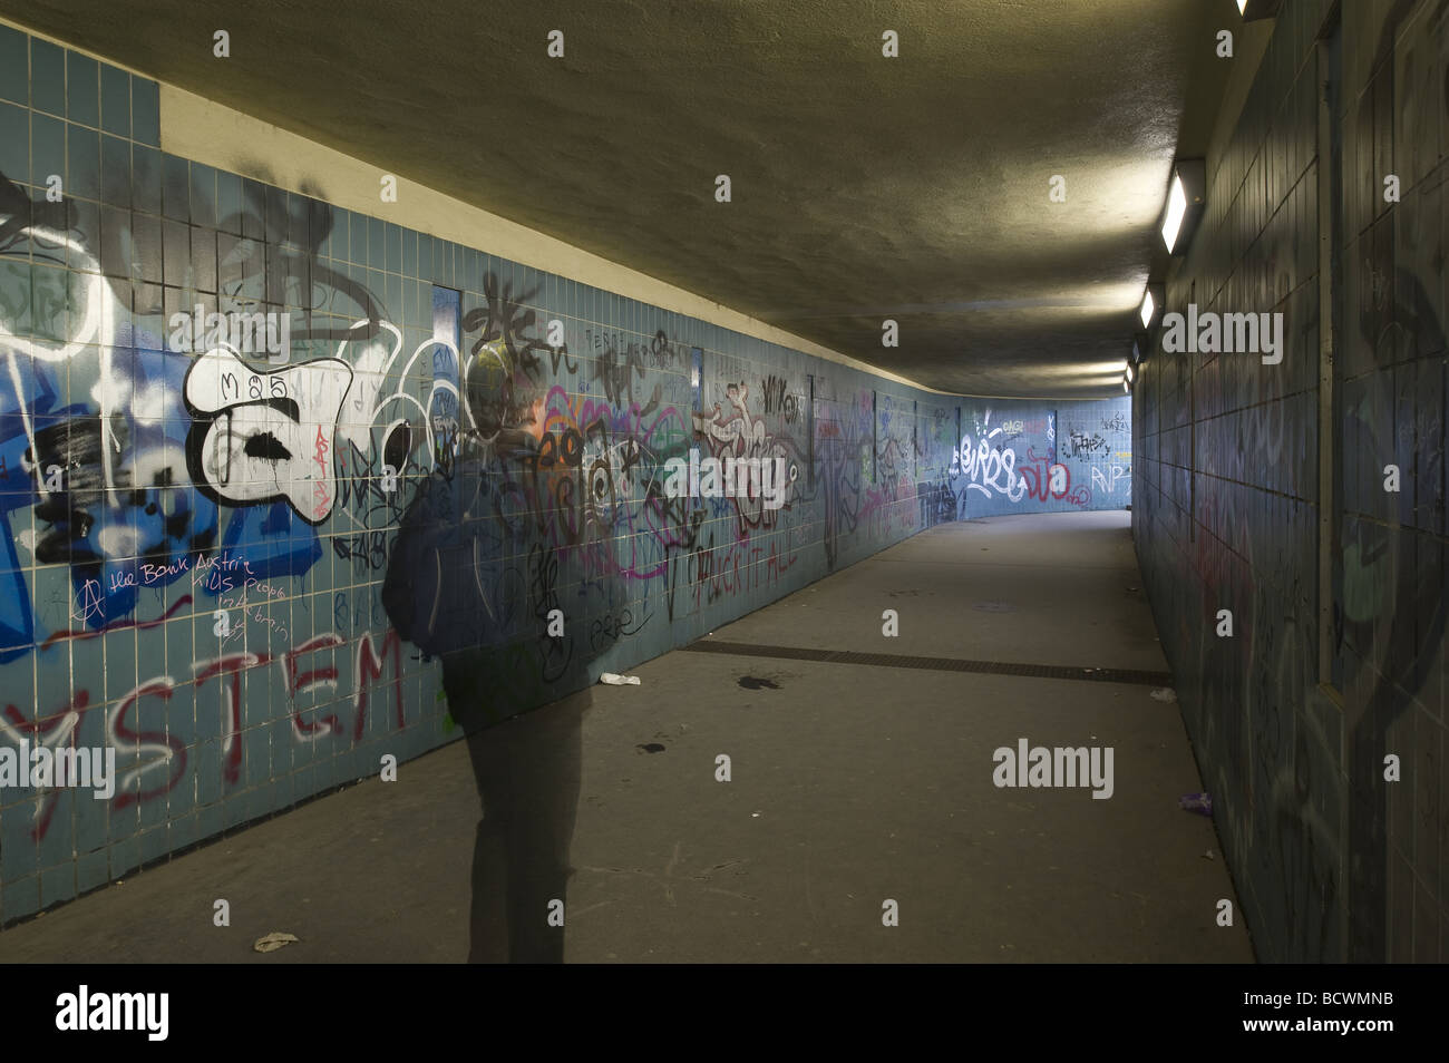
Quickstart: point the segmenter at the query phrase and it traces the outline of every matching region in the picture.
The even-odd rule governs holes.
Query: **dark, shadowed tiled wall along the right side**
[[[1339,498],[1319,490],[1316,35],[1285,0],[1168,310],[1281,311],[1279,365],[1158,353],[1136,400],[1137,552],[1264,960],[1443,960],[1449,20],[1342,6]],[[1436,10],[1437,9],[1437,10]],[[1401,201],[1384,197],[1397,175]],[[1384,490],[1387,465],[1401,491]],[[1330,466],[1332,468],[1332,466]],[[1320,688],[1319,520],[1333,579]],[[1219,610],[1235,634],[1217,636]],[[1387,782],[1384,757],[1401,762]]]

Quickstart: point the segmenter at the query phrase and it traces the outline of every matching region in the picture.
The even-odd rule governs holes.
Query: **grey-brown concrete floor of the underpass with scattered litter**
[[[942,526],[711,640],[1165,671],[1129,518]],[[1240,918],[1216,924],[1236,894],[1211,821],[1178,808],[1201,783],[1148,684],[697,652],[635,673],[494,728],[581,718],[567,928],[548,931],[569,962],[1253,959]],[[1113,797],[995,788],[993,750],[1020,737],[1111,746]],[[12,927],[0,959],[461,962],[478,810],[454,743]],[[252,951],[268,931],[300,941]]]

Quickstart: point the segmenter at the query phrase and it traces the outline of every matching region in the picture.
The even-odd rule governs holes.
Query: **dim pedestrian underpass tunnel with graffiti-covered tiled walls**
[[[0,957],[1449,959],[1446,55],[0,0]]]

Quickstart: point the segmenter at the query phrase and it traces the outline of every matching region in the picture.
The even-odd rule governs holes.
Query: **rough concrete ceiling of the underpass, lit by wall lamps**
[[[1240,26],[1232,0],[0,12],[927,387],[1068,398],[1122,392],[1169,164],[1206,149]]]

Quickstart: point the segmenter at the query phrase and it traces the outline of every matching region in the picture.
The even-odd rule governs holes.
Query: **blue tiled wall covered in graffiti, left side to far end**
[[[0,788],[4,920],[456,737],[449,647],[525,711],[942,520],[1129,498],[1122,401],[900,387],[167,155],[156,112],[0,28],[0,746],[120,773]],[[196,307],[287,316],[285,365],[201,387]],[[667,497],[690,448],[784,459],[784,507]]]

